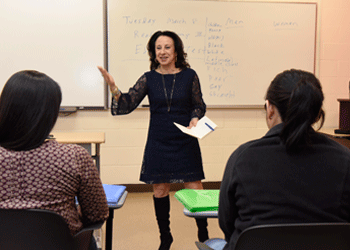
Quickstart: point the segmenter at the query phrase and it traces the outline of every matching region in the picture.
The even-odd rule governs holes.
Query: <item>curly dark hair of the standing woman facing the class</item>
[[[172,31],[157,31],[151,36],[147,44],[149,60],[151,62],[150,69],[154,70],[159,66],[159,62],[156,61],[156,41],[160,36],[170,37],[174,41],[175,52],[177,54],[175,67],[179,69],[190,68],[190,65],[186,61],[187,53],[184,51],[181,38]]]

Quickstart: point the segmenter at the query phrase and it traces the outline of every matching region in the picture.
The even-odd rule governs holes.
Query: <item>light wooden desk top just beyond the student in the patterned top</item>
[[[56,141],[60,143],[104,143],[104,132],[51,132]]]

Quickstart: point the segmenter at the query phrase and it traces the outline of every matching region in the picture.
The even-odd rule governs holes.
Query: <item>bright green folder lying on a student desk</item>
[[[217,189],[182,189],[175,193],[175,198],[190,212],[217,211],[219,208],[219,192],[220,190]]]

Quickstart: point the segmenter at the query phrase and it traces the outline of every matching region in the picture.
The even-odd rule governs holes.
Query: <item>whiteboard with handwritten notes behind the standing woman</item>
[[[208,106],[259,106],[274,76],[315,71],[316,3],[109,0],[109,71],[126,92],[149,70],[150,36],[182,39]]]

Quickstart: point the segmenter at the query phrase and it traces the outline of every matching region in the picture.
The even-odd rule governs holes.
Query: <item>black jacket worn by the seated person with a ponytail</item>
[[[253,225],[350,222],[350,150],[314,133],[287,153],[279,124],[230,156],[220,188],[219,224],[233,249]]]

